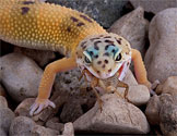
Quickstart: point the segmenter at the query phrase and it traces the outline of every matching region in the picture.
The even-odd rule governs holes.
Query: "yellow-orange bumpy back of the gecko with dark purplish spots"
[[[37,0],[0,0],[0,39],[69,54],[88,35],[106,33],[87,15]]]

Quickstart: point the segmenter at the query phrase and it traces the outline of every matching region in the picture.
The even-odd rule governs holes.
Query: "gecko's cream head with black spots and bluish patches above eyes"
[[[120,73],[131,59],[129,42],[116,34],[86,37],[76,48],[76,63],[97,78],[106,79]]]

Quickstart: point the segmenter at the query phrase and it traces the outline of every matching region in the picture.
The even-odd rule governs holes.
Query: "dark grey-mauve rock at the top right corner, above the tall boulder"
[[[158,13],[167,8],[176,8],[176,0],[130,0],[134,8],[143,7],[146,12]]]

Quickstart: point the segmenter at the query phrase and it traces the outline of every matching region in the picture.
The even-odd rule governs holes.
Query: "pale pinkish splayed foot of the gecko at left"
[[[31,106],[30,108],[30,115],[33,116],[35,114],[38,114],[43,109],[47,107],[56,108],[56,104],[50,101],[49,99],[36,99],[35,103]]]

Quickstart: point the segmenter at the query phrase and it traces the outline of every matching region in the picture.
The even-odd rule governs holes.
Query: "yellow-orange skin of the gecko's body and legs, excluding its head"
[[[108,34],[87,15],[39,0],[0,0],[0,39],[16,46],[59,51],[66,58],[48,64],[31,115],[55,104],[49,96],[56,73],[78,66],[75,50],[87,36]],[[131,49],[137,79],[150,87],[139,51]]]

